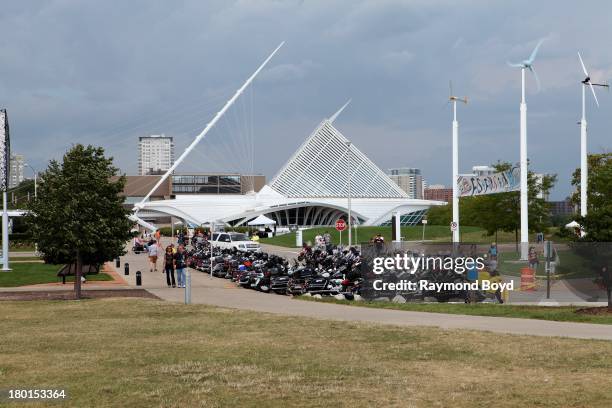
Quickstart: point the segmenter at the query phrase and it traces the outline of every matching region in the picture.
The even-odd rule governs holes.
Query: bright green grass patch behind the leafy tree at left
[[[57,272],[61,265],[48,265],[40,262],[13,263],[10,272],[0,272],[0,287],[36,285],[39,283],[59,282]],[[106,281],[113,278],[106,273],[87,275],[89,281]],[[74,282],[74,276],[66,277],[66,282]]]

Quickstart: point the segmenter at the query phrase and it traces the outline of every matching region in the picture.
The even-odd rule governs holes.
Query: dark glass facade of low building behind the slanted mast
[[[239,175],[173,175],[172,194],[240,194]]]

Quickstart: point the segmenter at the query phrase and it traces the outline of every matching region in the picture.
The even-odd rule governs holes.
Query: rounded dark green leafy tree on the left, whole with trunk
[[[101,147],[75,145],[62,163],[41,174],[38,199],[25,217],[47,263],[76,265],[75,296],[81,296],[82,266],[101,265],[124,253],[132,222],[119,193],[125,177]]]

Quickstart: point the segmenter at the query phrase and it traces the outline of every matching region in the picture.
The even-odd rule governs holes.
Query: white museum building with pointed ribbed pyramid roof
[[[347,218],[349,194],[353,222],[359,225],[389,224],[394,215],[402,225],[414,225],[429,207],[446,204],[408,198],[333,126],[332,118],[324,120],[256,193],[176,195],[145,202],[142,210],[192,225],[241,226],[265,215],[281,227],[327,226]]]

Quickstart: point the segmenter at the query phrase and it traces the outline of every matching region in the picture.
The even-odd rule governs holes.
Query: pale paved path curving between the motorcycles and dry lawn
[[[184,301],[183,289],[167,287],[165,275],[161,273],[161,259],[158,266],[160,272],[157,273],[149,272],[146,254],[128,254],[123,257],[120,272],[123,271],[123,262],[130,264],[130,275],[123,276],[128,285],[135,286],[135,272],[140,270],[143,288],[168,301]],[[612,340],[612,325],[423,313],[307,302],[241,289],[228,280],[210,278],[208,274],[195,270],[191,271],[191,276],[193,303],[316,319]]]

